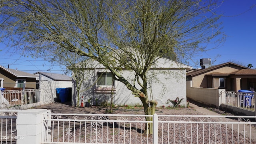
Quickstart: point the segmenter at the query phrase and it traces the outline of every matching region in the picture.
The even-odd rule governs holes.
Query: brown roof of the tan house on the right
[[[224,66],[239,66],[239,67],[241,67],[242,69],[249,69],[249,68],[247,68],[247,67],[245,67],[245,66],[241,66],[241,65],[239,65],[239,64],[235,64],[235,63],[233,63],[233,62],[226,62],[226,63],[223,63],[223,64],[218,64],[218,65],[215,65],[215,66],[211,66],[211,67],[209,67],[209,68],[205,68],[205,69],[200,69],[200,70],[195,70],[195,71],[193,71],[193,72],[189,72],[189,73],[187,73],[187,76],[196,76],[196,75],[199,75],[199,74],[203,74],[203,73],[206,73],[206,72],[210,72],[210,71],[212,71],[212,70],[216,70],[216,69],[218,69],[218,68],[221,68],[221,67],[224,67]],[[214,73],[212,73],[212,74],[214,74]],[[224,74],[224,73],[219,73],[219,74]],[[228,74],[228,73],[226,73],[226,74]],[[225,75],[226,75],[225,74]],[[230,74],[230,73],[229,73]],[[211,75],[211,74],[208,74],[208,75]]]

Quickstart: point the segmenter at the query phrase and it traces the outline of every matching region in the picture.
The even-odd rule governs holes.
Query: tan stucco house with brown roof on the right
[[[187,80],[197,88],[256,90],[256,70],[232,62],[188,72]]]

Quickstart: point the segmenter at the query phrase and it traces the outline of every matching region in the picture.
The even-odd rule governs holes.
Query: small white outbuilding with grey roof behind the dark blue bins
[[[66,88],[67,101],[71,100],[71,87],[72,78],[64,74],[54,74],[50,72],[36,72],[34,73],[38,76],[38,88],[41,89],[41,100],[44,102],[59,102],[57,98],[56,88]]]

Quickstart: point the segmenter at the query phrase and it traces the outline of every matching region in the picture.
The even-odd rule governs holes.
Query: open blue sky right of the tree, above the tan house
[[[252,64],[252,68],[256,68],[256,6],[247,11],[253,5],[256,0],[225,0],[218,10],[224,13],[220,21],[224,26],[222,31],[227,35],[226,42],[193,60],[199,62],[201,58],[211,58],[213,65],[231,61],[244,66]]]

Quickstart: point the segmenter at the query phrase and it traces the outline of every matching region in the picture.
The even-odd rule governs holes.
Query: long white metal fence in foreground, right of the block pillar
[[[152,117],[153,121],[146,121]],[[44,114],[42,144],[255,144],[256,116]],[[152,123],[153,134],[143,134]]]

